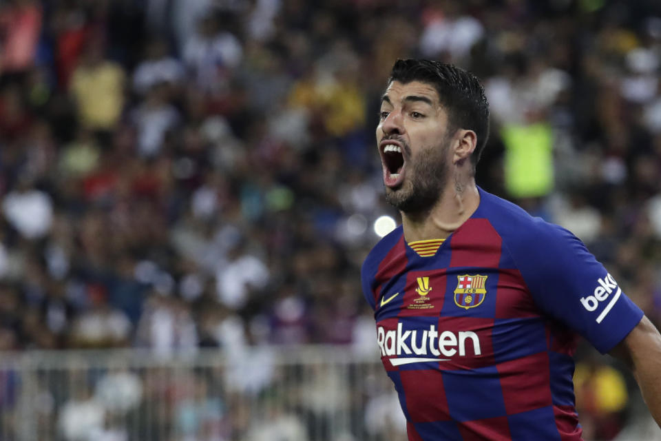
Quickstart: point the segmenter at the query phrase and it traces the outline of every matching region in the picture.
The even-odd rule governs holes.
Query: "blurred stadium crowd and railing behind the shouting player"
[[[2,0],[0,440],[405,440],[359,283],[398,57],[483,80],[479,185],[658,325],[656,0]],[[586,440],[661,439],[577,360]]]

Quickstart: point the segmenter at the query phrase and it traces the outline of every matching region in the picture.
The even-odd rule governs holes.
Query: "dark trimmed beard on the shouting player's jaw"
[[[412,167],[406,171],[407,177],[399,189],[386,187],[386,201],[406,214],[424,214],[441,198],[445,181],[448,179],[445,150],[443,146],[432,147],[420,152]],[[407,182],[408,181],[408,182]]]

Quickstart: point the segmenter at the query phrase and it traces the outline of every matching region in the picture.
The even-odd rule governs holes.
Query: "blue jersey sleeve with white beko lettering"
[[[642,311],[574,234],[541,219],[534,224],[533,236],[508,247],[534,301],[607,353],[638,325]]]

